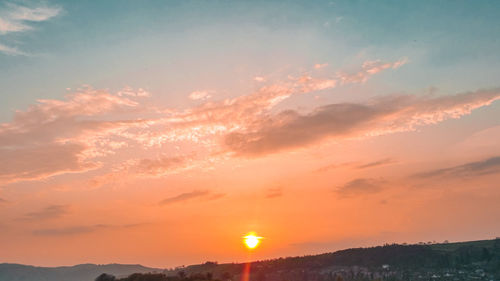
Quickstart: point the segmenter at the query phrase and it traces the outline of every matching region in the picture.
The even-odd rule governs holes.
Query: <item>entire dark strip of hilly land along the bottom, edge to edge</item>
[[[244,264],[216,262],[169,270],[135,265],[41,268],[0,264],[0,281],[92,281],[96,278],[99,281],[239,281],[244,267]],[[250,281],[500,281],[500,239],[393,244],[256,261],[251,264],[250,272]]]

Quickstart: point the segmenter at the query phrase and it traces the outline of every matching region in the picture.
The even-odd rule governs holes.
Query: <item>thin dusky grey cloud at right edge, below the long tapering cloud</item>
[[[500,173],[500,156],[413,175],[415,178],[476,177]]]

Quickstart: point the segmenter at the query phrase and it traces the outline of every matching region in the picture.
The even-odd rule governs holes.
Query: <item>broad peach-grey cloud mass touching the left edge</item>
[[[119,148],[114,139],[147,121],[113,120],[139,104],[105,91],[81,90],[66,100],[39,100],[0,124],[0,182],[43,179],[100,166],[91,159]]]

